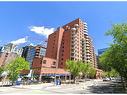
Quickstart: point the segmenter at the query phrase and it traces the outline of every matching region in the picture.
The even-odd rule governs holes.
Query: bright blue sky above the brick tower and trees
[[[52,32],[76,18],[88,23],[97,51],[111,43],[105,32],[112,24],[127,22],[127,2],[0,2],[0,45],[40,43],[46,34],[37,31]]]

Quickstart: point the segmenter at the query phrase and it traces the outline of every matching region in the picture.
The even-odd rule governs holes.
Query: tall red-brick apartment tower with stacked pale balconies
[[[46,57],[56,59],[57,68],[65,68],[68,59],[82,60],[96,67],[92,40],[87,32],[87,23],[79,18],[59,27],[48,37]]]

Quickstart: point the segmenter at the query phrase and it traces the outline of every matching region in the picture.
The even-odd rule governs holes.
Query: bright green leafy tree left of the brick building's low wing
[[[6,65],[6,69],[9,72],[9,79],[12,80],[12,84],[17,80],[18,75],[22,70],[29,70],[29,63],[22,57],[17,57]]]

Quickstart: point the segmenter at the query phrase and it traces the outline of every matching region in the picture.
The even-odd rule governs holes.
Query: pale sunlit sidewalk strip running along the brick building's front
[[[102,80],[90,80],[85,82],[80,82],[79,84],[61,84],[55,85],[54,83],[41,83],[41,84],[32,84],[32,85],[17,85],[13,86],[15,88],[22,88],[22,89],[45,89],[45,88],[64,88],[64,87],[72,87],[72,88],[87,88],[87,86],[96,85],[98,82]]]

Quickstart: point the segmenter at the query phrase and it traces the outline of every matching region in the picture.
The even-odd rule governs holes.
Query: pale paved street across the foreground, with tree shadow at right
[[[12,87],[1,87],[0,94],[102,94],[120,93],[114,90],[117,85],[111,81],[90,80],[79,84],[54,85],[53,83],[43,83],[37,85],[20,85]]]

